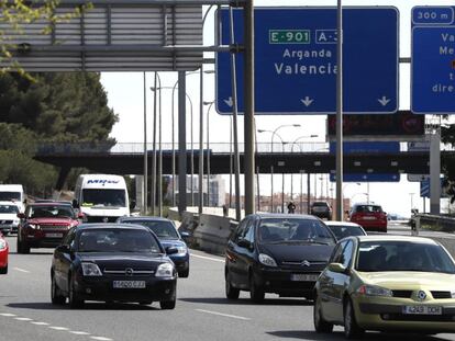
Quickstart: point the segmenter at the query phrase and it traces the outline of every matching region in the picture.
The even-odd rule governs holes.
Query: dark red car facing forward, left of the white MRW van
[[[18,253],[30,253],[30,248],[55,248],[68,230],[81,218],[70,203],[42,202],[30,204],[21,218],[18,231]]]

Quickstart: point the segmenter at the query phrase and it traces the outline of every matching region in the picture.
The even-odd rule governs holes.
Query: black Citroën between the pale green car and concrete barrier
[[[256,303],[265,293],[311,299],[335,243],[334,235],[317,217],[249,215],[228,242],[226,297],[236,299],[240,291],[248,291]]]

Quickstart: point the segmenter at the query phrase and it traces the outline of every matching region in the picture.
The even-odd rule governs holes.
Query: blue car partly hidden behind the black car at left
[[[174,223],[160,217],[120,217],[118,223],[137,224],[149,228],[165,247],[173,247],[177,252],[169,258],[176,264],[178,276],[188,277],[189,275],[189,252],[182,236],[177,231]]]

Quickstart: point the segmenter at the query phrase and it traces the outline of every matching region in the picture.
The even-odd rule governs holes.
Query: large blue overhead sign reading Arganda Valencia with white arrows
[[[243,44],[243,15],[234,10],[235,43]],[[398,110],[398,10],[343,10],[343,109],[351,114]],[[229,10],[218,32],[230,44]],[[336,8],[255,9],[255,111],[257,114],[336,112]],[[238,112],[244,107],[243,54],[236,54]],[[217,110],[232,113],[230,54],[217,54]]]

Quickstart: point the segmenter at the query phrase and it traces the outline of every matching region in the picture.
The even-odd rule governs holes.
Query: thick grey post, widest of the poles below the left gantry
[[[178,212],[187,209],[187,132],[186,132],[186,94],[185,71],[178,71]]]

